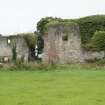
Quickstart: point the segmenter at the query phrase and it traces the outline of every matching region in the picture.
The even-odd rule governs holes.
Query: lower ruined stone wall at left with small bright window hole
[[[14,52],[15,51],[15,52]],[[0,36],[0,62],[16,59],[28,61],[29,48],[22,36]]]

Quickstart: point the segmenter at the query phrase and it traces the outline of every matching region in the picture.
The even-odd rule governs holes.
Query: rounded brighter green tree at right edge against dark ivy
[[[105,31],[96,31],[91,38],[91,44],[98,50],[104,51],[105,58]]]

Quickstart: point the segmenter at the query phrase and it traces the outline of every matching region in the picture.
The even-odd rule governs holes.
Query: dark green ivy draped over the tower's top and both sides
[[[90,40],[96,31],[105,31],[105,15],[87,16],[80,19],[61,19],[46,17],[42,18],[37,24],[37,31],[40,35],[44,35],[46,31],[46,25],[53,24],[68,24],[77,23],[80,27],[81,41],[84,48],[92,50],[90,46]],[[95,49],[96,50],[96,49]],[[98,49],[97,49],[98,50]]]

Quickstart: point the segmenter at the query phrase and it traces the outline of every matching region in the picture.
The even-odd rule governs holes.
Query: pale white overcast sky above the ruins
[[[43,17],[79,18],[105,14],[105,0],[0,0],[0,33],[35,31]]]

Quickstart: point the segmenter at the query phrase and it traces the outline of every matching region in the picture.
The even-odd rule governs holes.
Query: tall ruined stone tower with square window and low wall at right
[[[103,52],[85,51],[81,45],[79,26],[76,23],[52,24],[43,37],[44,63],[76,63],[101,59]]]

